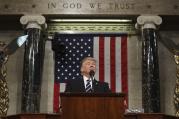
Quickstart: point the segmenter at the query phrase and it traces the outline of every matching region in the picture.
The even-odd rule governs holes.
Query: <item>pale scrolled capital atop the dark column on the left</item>
[[[45,26],[46,20],[42,15],[24,15],[20,18],[20,23],[28,28],[41,29],[41,26]],[[46,27],[46,26],[45,26]]]

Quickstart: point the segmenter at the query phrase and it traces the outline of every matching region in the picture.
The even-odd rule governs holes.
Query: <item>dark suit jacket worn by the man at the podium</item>
[[[68,80],[65,92],[85,92],[83,77],[81,76],[79,79]],[[93,92],[106,93],[111,91],[109,89],[108,83],[93,80]]]

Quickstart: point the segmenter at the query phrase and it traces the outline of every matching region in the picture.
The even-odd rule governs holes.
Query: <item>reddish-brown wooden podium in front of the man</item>
[[[61,93],[62,119],[123,119],[123,93]]]

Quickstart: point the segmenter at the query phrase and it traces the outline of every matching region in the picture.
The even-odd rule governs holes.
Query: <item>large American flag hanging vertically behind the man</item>
[[[97,60],[96,80],[109,83],[112,92],[128,93],[126,34],[55,34],[54,112],[59,109],[60,83],[80,75],[80,61]]]

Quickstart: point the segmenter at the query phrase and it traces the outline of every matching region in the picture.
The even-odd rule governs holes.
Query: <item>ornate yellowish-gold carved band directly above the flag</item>
[[[48,35],[59,33],[127,33],[136,34],[132,23],[49,23]]]

